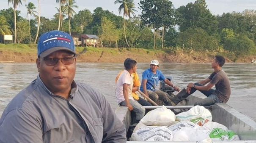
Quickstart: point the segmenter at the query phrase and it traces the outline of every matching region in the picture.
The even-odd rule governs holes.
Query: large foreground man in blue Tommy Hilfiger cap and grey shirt
[[[126,129],[105,97],[74,81],[72,37],[41,35],[38,77],[16,95],[0,118],[0,143],[125,143]]]

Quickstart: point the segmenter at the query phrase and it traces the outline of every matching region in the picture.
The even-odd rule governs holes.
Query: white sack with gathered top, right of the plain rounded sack
[[[212,114],[204,106],[194,106],[189,111],[182,112],[176,115],[177,121],[190,121],[199,126],[203,126],[205,123],[212,121]]]

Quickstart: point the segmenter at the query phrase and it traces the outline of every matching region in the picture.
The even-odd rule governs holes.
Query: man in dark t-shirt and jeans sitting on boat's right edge
[[[183,89],[175,97],[171,98],[173,106],[176,106],[180,101],[187,98],[187,96],[191,95],[196,90],[206,95],[207,98],[195,102],[194,106],[210,106],[220,102],[227,103],[231,94],[231,88],[226,72],[221,69],[224,64],[225,58],[223,56],[215,56],[212,60],[212,69],[214,69],[214,72],[212,72],[208,78],[200,82],[189,83],[186,90]],[[214,85],[215,90],[212,89]]]

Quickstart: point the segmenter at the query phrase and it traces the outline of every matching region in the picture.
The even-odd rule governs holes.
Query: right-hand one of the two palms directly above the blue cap
[[[77,5],[74,5],[76,2],[74,0],[68,0],[66,2],[66,5],[63,7],[66,14],[69,16],[69,34],[71,35],[71,26],[70,26],[70,19],[74,16],[76,13],[73,8],[78,8]]]

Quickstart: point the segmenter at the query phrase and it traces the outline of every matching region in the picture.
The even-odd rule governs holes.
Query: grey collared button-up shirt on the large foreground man
[[[0,118],[0,143],[125,143],[126,129],[105,97],[73,81],[69,100],[38,76]]]

